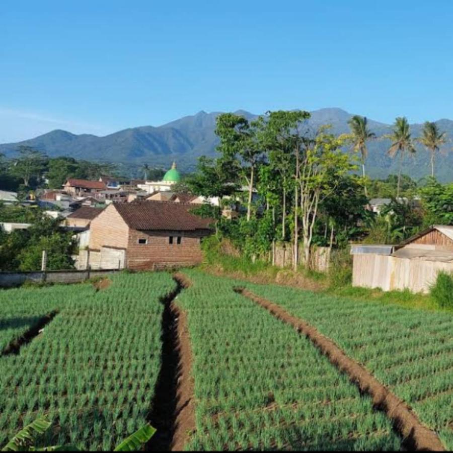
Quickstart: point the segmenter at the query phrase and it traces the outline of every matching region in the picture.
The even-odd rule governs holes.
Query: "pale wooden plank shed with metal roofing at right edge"
[[[399,246],[355,245],[352,284],[428,292],[440,271],[453,272],[453,226],[434,225]]]

